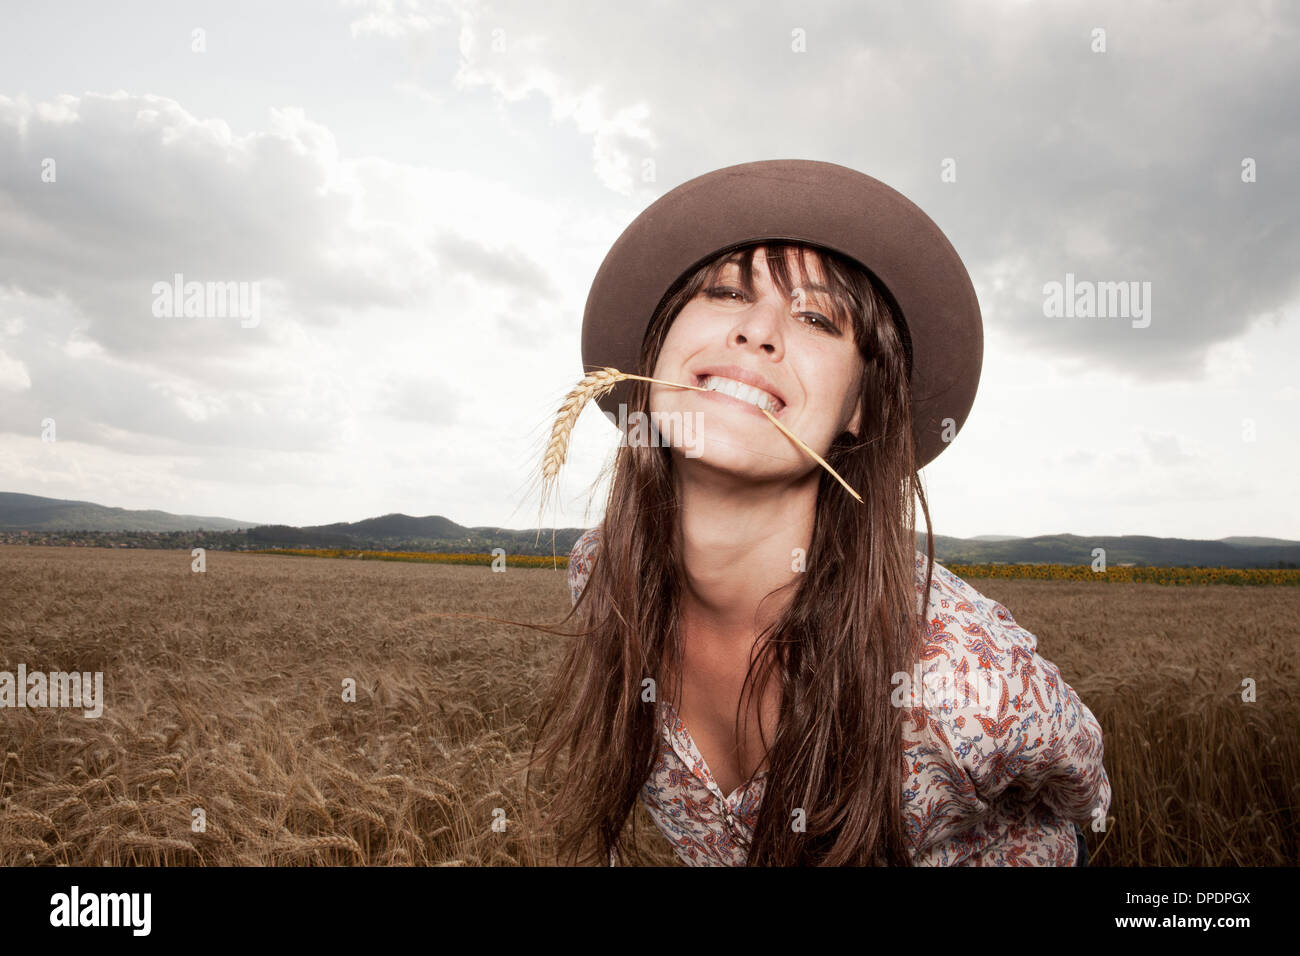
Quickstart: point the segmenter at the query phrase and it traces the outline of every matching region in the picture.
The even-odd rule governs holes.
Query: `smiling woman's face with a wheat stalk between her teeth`
[[[767,251],[754,251],[754,293],[746,297],[741,264],[727,263],[718,277],[677,315],[664,337],[653,377],[738,392],[696,392],[653,385],[651,418],[676,427],[688,421],[686,457],[750,477],[801,476],[820,467],[774,425],[753,402],[771,402],[776,419],[823,458],[845,431],[861,421],[862,355],[852,324],[836,319],[819,258],[806,255],[809,274],[792,297],[781,297],[767,269]],[[788,274],[800,282],[790,250]],[[801,291],[802,290],[802,291]],[[716,376],[710,385],[710,378]],[[737,389],[736,381],[760,392]],[[771,398],[770,398],[771,397]],[[660,424],[660,431],[664,425]],[[675,441],[675,446],[681,446]]]

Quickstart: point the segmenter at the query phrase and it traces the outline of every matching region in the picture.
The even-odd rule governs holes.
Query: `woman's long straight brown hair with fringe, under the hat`
[[[933,564],[933,533],[915,470],[909,392],[910,342],[884,286],[831,250],[757,241],[723,250],[670,289],[646,330],[640,375],[654,375],[659,350],[682,307],[738,260],[753,293],[753,256],[768,251],[772,281],[786,298],[794,285],[786,254],[803,276],[806,254],[819,258],[827,286],[848,313],[864,360],[857,438],[836,437],[827,462],[863,494],[854,501],[822,470],[806,571],[780,617],[755,643],[745,692],[776,678],[781,705],[775,737],[759,723],[767,780],[749,847],[750,866],[910,865],[904,825],[905,711],[890,704],[890,678],[910,672],[923,635]],[[841,308],[837,306],[837,308]],[[633,411],[649,416],[650,384],[634,381]],[[620,444],[601,546],[572,615],[585,624],[543,701],[529,767],[550,777],[567,753],[562,787],[549,814],[562,861],[606,862],[630,856],[624,826],[658,750],[658,708],[645,688],[680,674],[681,523],[672,453],[654,444]],[[927,575],[915,593],[915,497],[926,514]],[[654,683],[647,684],[651,679]],[[680,682],[676,683],[680,687]],[[528,791],[528,787],[525,787]],[[805,829],[792,827],[802,810]],[[634,840],[634,834],[633,834]]]

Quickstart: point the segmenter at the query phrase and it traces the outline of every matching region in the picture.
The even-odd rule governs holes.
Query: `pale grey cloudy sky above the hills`
[[[971,272],[936,532],[1300,538],[1294,4],[4,17],[0,490],[534,525],[610,245],[694,176],[802,157],[902,191]],[[177,273],[256,284],[257,320],[156,315]],[[1045,315],[1067,273],[1149,282],[1149,324]],[[599,519],[615,441],[589,408],[547,525]]]

